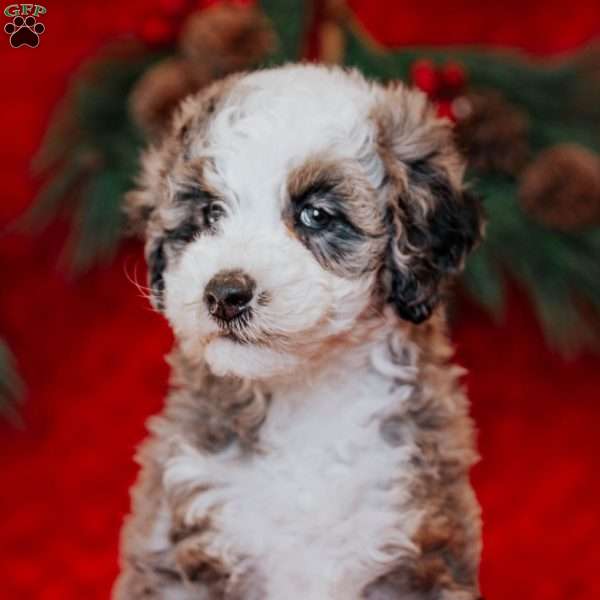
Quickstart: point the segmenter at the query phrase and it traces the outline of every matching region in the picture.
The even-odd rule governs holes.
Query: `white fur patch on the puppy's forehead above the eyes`
[[[315,154],[356,160],[377,187],[372,106],[358,74],[311,65],[259,71],[233,86],[191,154],[210,157],[208,179],[244,204],[281,201],[289,171]]]

